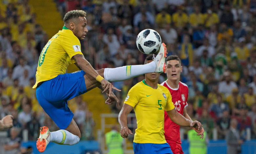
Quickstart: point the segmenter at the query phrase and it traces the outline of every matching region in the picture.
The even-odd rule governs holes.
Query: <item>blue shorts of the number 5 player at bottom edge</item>
[[[133,143],[134,154],[173,154],[168,143]]]

